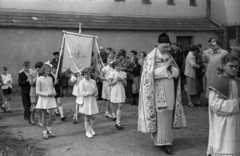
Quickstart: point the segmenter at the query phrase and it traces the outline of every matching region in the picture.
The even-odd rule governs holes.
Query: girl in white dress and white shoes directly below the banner
[[[84,68],[84,77],[79,84],[82,102],[79,102],[79,112],[84,114],[86,136],[92,138],[96,133],[93,130],[94,114],[99,113],[96,96],[98,95],[96,81],[90,78],[90,68]]]

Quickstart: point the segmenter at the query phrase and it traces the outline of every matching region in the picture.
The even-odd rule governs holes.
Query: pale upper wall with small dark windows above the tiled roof
[[[167,0],[0,0],[1,9],[77,12],[84,14],[127,15],[127,16],[187,16],[205,17],[206,0],[197,0],[197,6],[189,6],[190,0],[175,0],[175,5],[167,5]]]

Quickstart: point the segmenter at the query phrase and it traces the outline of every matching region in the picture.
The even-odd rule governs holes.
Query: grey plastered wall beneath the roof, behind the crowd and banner
[[[78,32],[78,30],[68,30]],[[162,32],[139,31],[82,31],[83,34],[98,36],[98,45],[112,47],[116,52],[125,49],[149,52],[157,42],[158,35]],[[37,61],[47,61],[53,58],[52,53],[58,51],[62,42],[62,30],[54,29],[7,29],[0,28],[0,66],[8,67],[12,74],[14,90],[18,90],[18,72],[22,62],[29,60],[31,67]],[[202,44],[207,48],[207,40],[216,37],[216,33],[209,32],[167,32],[172,42],[176,36],[194,36],[195,44]]]

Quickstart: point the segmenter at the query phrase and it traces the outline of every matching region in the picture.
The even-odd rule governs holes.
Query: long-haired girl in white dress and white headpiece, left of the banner
[[[57,107],[55,96],[56,91],[53,87],[53,80],[48,76],[51,72],[51,65],[44,64],[39,71],[36,83],[36,94],[38,101],[36,109],[40,109],[42,114],[43,138],[55,137],[51,126],[53,122],[54,109]],[[49,121],[47,123],[47,110],[49,110]]]

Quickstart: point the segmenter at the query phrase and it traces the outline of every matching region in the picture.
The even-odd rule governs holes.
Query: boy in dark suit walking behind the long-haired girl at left
[[[22,65],[23,69],[18,74],[18,85],[21,87],[22,103],[24,107],[24,119],[30,121],[30,84],[29,84],[29,67],[30,62],[24,61]]]

